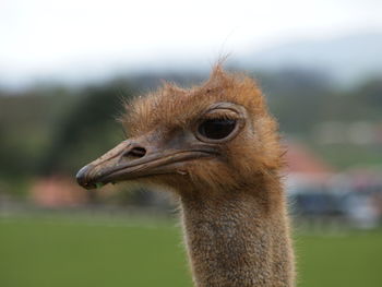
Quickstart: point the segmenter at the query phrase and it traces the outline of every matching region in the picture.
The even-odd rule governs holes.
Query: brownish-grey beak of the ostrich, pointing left
[[[182,137],[182,136],[181,136]],[[153,175],[184,172],[184,162],[212,157],[216,148],[200,142],[165,141],[148,134],[121,142],[76,175],[80,186],[94,189],[108,182],[136,179]]]

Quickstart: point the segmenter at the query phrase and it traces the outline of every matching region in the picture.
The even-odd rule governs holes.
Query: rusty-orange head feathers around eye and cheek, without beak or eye
[[[171,141],[179,132],[192,131],[205,110],[217,103],[243,107],[246,127],[235,139],[219,144],[220,158],[190,160],[184,170],[188,180],[220,190],[276,175],[283,166],[284,152],[277,123],[260,88],[249,76],[225,72],[219,64],[201,86],[184,89],[166,83],[155,93],[127,104],[121,121],[133,137],[158,131]],[[183,184],[180,177],[167,177],[165,182]],[[155,181],[158,178],[164,177],[155,177]]]

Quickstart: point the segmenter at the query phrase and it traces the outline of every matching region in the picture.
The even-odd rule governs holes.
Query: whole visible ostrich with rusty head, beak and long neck
[[[166,83],[126,106],[131,137],[83,167],[77,182],[172,191],[198,287],[294,286],[284,148],[256,83],[217,64],[201,86]]]

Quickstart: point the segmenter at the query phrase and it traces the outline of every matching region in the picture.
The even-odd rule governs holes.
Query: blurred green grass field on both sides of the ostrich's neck
[[[191,287],[172,222],[0,218],[1,287]],[[382,231],[296,235],[299,287],[382,286]]]

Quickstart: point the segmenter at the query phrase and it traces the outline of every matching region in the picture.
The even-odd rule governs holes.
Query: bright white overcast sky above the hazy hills
[[[211,65],[299,39],[382,31],[381,0],[0,0],[0,83]]]

